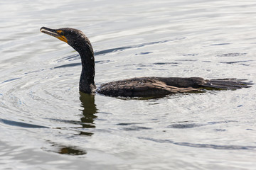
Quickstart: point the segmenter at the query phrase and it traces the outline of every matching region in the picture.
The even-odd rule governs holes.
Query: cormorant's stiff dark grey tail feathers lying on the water
[[[206,84],[201,84],[203,87],[209,87],[214,89],[241,89],[248,88],[252,85],[252,81],[246,79],[210,79],[206,81]]]

